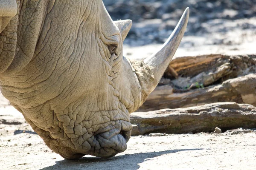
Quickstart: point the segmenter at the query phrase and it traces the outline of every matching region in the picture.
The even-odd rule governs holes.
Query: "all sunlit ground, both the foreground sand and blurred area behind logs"
[[[169,37],[182,12],[190,19],[176,57],[256,53],[256,0],[103,0],[113,20],[132,19],[124,55],[152,54]],[[111,159],[67,161],[44,144],[21,113],[0,95],[1,170],[174,169],[255,170],[256,131],[133,136]]]

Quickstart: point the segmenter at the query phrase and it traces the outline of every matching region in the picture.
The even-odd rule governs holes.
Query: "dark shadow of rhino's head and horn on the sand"
[[[41,170],[137,170],[140,168],[140,163],[153,159],[154,157],[161,156],[169,153],[177,153],[181,151],[189,150],[204,150],[202,148],[195,149],[180,149],[180,150],[166,150],[159,152],[149,152],[149,153],[133,153],[125,154],[121,156],[115,156],[108,159],[98,158],[98,157],[83,157],[78,160],[62,160],[56,161],[56,164],[49,167],[44,167]]]

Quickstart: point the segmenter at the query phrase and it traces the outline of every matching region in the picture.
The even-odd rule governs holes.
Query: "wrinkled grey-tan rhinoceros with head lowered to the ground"
[[[102,0],[0,0],[1,92],[65,159],[115,156],[188,18],[187,8],[163,47],[135,62],[122,53],[131,20],[114,22]]]

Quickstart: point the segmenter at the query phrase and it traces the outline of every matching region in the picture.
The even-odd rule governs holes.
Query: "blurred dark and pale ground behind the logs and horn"
[[[256,53],[256,0],[103,0],[113,20],[133,20],[124,55],[145,58],[163,44],[186,7],[189,24],[175,57]]]

